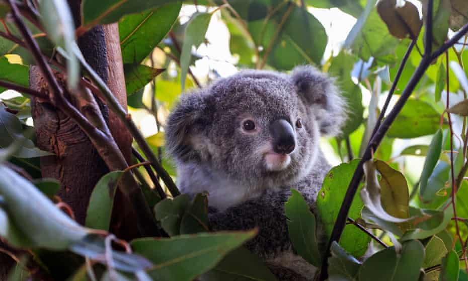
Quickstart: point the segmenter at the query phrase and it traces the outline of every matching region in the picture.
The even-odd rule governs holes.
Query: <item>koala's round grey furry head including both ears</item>
[[[243,71],[183,95],[167,121],[167,147],[178,165],[253,188],[283,186],[309,173],[319,137],[339,133],[344,112],[334,81],[311,66]]]

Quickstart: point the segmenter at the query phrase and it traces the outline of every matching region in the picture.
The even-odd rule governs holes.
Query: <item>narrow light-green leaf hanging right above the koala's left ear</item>
[[[185,29],[184,44],[180,55],[181,86],[185,88],[185,78],[189,69],[192,46],[198,47],[205,40],[206,30],[211,20],[211,14],[199,13],[193,16]]]

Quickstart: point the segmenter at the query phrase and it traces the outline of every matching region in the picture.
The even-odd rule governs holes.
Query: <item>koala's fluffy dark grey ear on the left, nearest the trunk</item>
[[[166,149],[180,161],[209,157],[207,130],[210,123],[206,95],[202,91],[184,94],[166,122]]]

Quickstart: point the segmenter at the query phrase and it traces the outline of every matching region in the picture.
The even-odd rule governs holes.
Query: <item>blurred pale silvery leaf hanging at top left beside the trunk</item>
[[[69,89],[75,89],[80,79],[80,63],[73,54],[75,27],[70,8],[67,2],[60,0],[44,0],[39,4],[40,18],[47,36],[55,46],[63,48],[68,54],[67,85]]]

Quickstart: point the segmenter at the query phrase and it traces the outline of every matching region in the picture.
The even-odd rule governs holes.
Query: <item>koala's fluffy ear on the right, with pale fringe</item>
[[[311,106],[323,135],[341,132],[346,119],[346,106],[334,79],[310,65],[297,66],[291,74],[292,83],[306,106]]]

